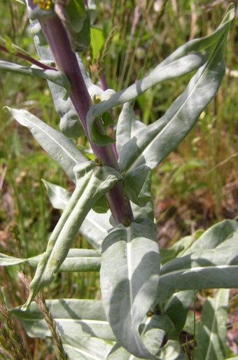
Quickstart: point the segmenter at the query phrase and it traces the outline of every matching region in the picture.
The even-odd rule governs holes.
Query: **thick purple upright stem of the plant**
[[[29,1],[29,6],[34,8],[32,0]],[[57,69],[63,71],[71,83],[69,97],[78,113],[83,129],[85,130],[85,134],[87,135],[87,139],[90,141],[86,116],[87,111],[92,104],[92,100],[80,72],[76,54],[71,50],[69,37],[57,15],[53,15],[48,18],[41,18],[39,22],[50,46],[50,50],[52,51]],[[95,125],[101,132],[104,132],[104,126],[101,120],[95,121]],[[90,145],[96,158],[102,159],[104,165],[113,167],[120,172],[118,161],[111,144],[98,146],[90,141]],[[123,189],[123,181],[118,181],[109,193],[107,193],[106,198],[109,202],[111,214],[113,215],[113,219],[116,224],[124,223],[125,225],[128,225],[130,221],[133,221],[134,216],[130,201]]]

